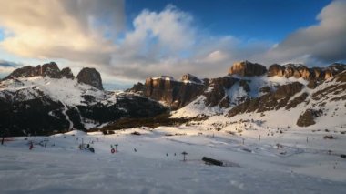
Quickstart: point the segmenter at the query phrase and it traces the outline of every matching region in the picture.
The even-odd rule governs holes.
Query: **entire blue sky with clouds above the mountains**
[[[120,88],[242,60],[327,66],[346,61],[345,35],[346,0],[0,0],[0,77],[56,61]]]

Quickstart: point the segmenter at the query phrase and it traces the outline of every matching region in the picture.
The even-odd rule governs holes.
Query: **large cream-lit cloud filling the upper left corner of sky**
[[[0,46],[17,56],[107,64],[107,37],[124,26],[123,0],[0,1]]]

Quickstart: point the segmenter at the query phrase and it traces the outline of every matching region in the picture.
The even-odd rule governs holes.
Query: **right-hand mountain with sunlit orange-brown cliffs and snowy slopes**
[[[346,124],[346,65],[312,67],[243,61],[228,76],[199,79],[152,77],[127,91],[161,101],[172,117],[256,117],[269,125],[308,127]],[[271,122],[271,123],[270,123]]]

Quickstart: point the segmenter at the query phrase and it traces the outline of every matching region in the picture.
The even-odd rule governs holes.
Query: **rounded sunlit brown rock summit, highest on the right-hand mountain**
[[[241,77],[253,77],[262,76],[267,72],[266,66],[260,64],[251,63],[249,61],[242,61],[234,63],[229,68],[229,75],[239,75]]]

